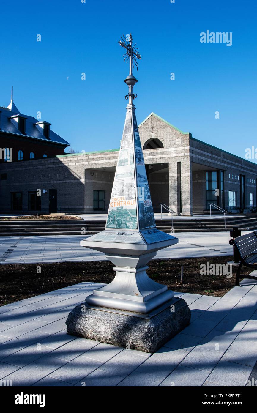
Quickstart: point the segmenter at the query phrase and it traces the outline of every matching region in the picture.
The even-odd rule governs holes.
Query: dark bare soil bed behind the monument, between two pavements
[[[232,278],[226,275],[200,275],[200,265],[226,264],[232,256],[190,259],[155,259],[150,261],[148,275],[177,292],[222,297],[235,285],[237,266],[232,266]],[[40,265],[41,273],[37,273]],[[180,284],[183,265],[183,283]],[[0,265],[0,306],[33,297],[79,282],[109,283],[114,278],[109,261],[61,262],[45,264]],[[251,270],[244,268],[242,274]]]

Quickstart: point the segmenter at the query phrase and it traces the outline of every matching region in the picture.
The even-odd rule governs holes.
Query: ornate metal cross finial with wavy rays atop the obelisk
[[[137,97],[136,93],[133,93],[133,86],[136,84],[137,79],[135,78],[135,76],[133,76],[133,68],[134,68],[134,64],[138,70],[138,63],[136,61],[136,59],[142,59],[138,50],[138,47],[136,47],[136,43],[133,46],[132,45],[132,34],[130,33],[130,35],[127,35],[127,37],[125,38],[124,34],[121,36],[121,40],[119,40],[119,44],[121,45],[121,47],[123,47],[124,49],[126,49],[126,52],[124,53],[123,57],[124,57],[124,62],[126,60],[126,63],[128,62],[129,59],[129,75],[126,77],[126,79],[124,80],[124,82],[128,85],[128,95],[125,96],[126,99],[129,99],[129,104],[133,105],[133,99],[135,99]]]

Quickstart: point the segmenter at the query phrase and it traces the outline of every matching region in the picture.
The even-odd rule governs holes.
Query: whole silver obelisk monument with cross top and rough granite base
[[[115,278],[93,290],[85,303],[67,318],[69,334],[119,346],[154,352],[190,321],[183,299],[174,299],[166,285],[151,280],[147,263],[159,249],[178,239],[157,230],[136,121],[133,76],[136,59],[132,35],[119,44],[129,60],[126,119],[114,177],[105,230],[81,241],[81,245],[105,253],[114,263]]]

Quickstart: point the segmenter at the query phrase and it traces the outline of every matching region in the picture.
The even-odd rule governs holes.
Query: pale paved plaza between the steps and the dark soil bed
[[[242,232],[246,234],[249,231]],[[155,258],[233,255],[226,232],[178,233],[178,244],[157,252]],[[80,246],[89,235],[0,237],[0,263],[46,263],[106,260],[104,253]]]

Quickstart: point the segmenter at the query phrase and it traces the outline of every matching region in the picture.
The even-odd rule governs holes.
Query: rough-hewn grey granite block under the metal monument
[[[147,317],[131,316],[85,307],[74,307],[66,320],[71,335],[131,349],[155,353],[190,322],[190,309],[183,299],[171,307]]]

